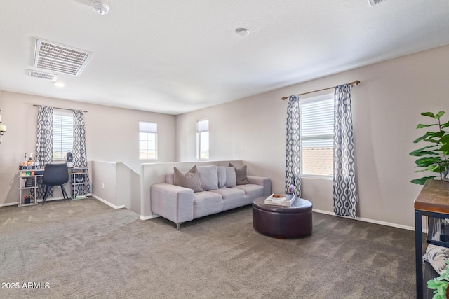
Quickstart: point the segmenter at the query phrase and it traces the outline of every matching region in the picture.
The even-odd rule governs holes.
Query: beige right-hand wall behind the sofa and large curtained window
[[[420,113],[444,110],[449,119],[449,46],[361,67],[262,95],[177,116],[179,161],[195,160],[196,120],[209,119],[210,158],[244,160],[248,172],[272,179],[273,192],[284,190],[286,101],[281,97],[340,85],[352,88],[359,216],[414,226],[413,201],[421,186],[410,183],[423,132]],[[315,209],[333,211],[332,181],[303,179],[302,194]]]

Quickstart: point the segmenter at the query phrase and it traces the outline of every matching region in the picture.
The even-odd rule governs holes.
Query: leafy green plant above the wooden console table
[[[413,141],[415,144],[420,141],[431,144],[410,153],[410,155],[420,157],[415,161],[417,165],[415,168],[420,167],[421,169],[416,170],[415,172],[436,172],[440,174],[440,179],[443,179],[443,173],[445,172],[446,167],[448,167],[449,165],[449,162],[446,158],[446,155],[449,154],[449,132],[446,132],[443,129],[449,127],[449,121],[446,123],[441,123],[441,116],[444,115],[444,111],[440,111],[436,114],[431,112],[424,112],[421,113],[421,115],[432,118],[433,121],[431,124],[420,123],[419,125],[417,125],[417,129],[436,127],[437,130],[434,132],[428,131],[426,132],[426,134]],[[423,176],[420,179],[413,179],[411,182],[424,185],[427,179],[434,178],[436,178],[436,176]]]

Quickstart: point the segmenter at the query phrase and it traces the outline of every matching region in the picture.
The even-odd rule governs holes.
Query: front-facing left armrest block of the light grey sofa
[[[150,187],[152,213],[174,223],[194,218],[194,190],[169,183],[155,183]]]

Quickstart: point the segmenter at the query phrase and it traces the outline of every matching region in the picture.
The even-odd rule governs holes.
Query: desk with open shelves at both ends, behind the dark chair
[[[39,188],[39,179],[43,176],[45,169],[20,170],[20,198],[19,207],[32,206],[37,204],[37,188]],[[87,167],[69,168],[69,196],[74,200],[87,197]],[[25,196],[29,196],[29,203],[25,203]]]

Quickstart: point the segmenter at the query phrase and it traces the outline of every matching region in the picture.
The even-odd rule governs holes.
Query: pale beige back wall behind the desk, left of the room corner
[[[82,109],[88,160],[123,162],[140,173],[139,121],[158,123],[158,160],[175,161],[175,116],[25,95],[2,90],[2,123],[8,132],[0,144],[0,206],[18,202],[18,165],[23,153],[35,151],[37,107],[33,104]]]

